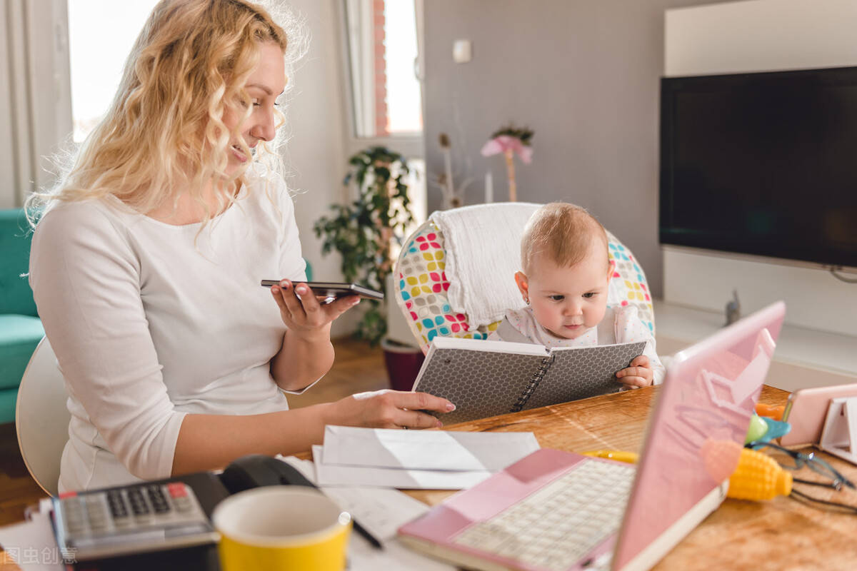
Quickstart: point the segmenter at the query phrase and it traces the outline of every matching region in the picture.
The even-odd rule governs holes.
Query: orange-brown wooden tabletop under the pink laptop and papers
[[[457,431],[531,431],[542,448],[569,452],[639,452],[656,387],[504,414],[445,428]],[[785,404],[788,392],[765,386],[759,401]],[[819,454],[849,479],[857,467]],[[812,479],[803,468],[800,475]],[[857,505],[857,492],[795,484],[814,497]],[[449,491],[408,491],[429,505]],[[770,502],[727,499],[676,545],[655,569],[857,569],[857,515],[806,506],[790,497]]]

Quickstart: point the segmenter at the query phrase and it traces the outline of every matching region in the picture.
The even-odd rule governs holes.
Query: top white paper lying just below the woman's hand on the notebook
[[[537,449],[532,432],[403,431],[328,425],[324,464],[499,472]]]

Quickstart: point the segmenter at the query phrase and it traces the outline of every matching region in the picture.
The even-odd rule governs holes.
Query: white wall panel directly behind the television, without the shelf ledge
[[[666,11],[668,76],[857,65],[854,0],[748,0]],[[664,247],[664,299],[745,313],[784,299],[786,321],[857,336],[857,285],[819,266]],[[854,275],[851,275],[854,277]]]

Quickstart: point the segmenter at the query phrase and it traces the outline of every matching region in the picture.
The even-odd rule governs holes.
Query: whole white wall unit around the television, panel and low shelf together
[[[852,0],[825,0],[823,8],[806,0],[746,0],[669,9],[665,75],[857,66],[854,29]],[[662,251],[664,299],[655,306],[659,353],[672,354],[721,327],[723,307],[736,288],[745,315],[786,300],[770,384],[794,390],[855,382],[857,284],[836,280],[820,264],[692,247]]]

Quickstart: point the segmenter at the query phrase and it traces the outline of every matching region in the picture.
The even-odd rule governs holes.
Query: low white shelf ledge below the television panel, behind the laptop
[[[654,300],[658,353],[673,354],[725,323],[723,313]],[[746,314],[746,312],[745,312]],[[786,311],[788,319],[788,309]],[[772,367],[786,390],[857,382],[857,337],[784,324],[776,343]]]

